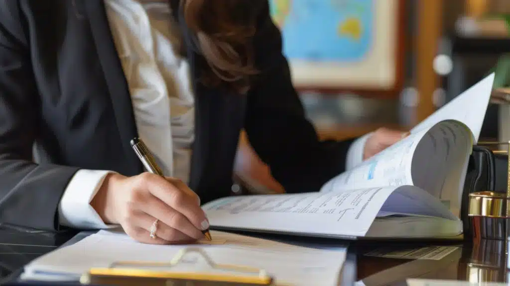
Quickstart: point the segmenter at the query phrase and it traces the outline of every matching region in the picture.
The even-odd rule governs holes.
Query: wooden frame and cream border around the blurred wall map
[[[288,32],[286,30],[287,27],[282,26],[285,24],[282,24],[282,18],[278,19],[274,16],[274,9],[278,9],[278,7],[274,7],[276,1],[278,0],[273,1],[273,18],[275,22],[281,26],[284,54],[289,60],[292,80],[299,92],[334,95],[354,93],[361,96],[377,98],[396,98],[399,96],[404,81],[404,0],[366,0],[367,3],[370,2],[370,14],[373,16],[373,19],[370,21],[372,26],[367,32],[364,32],[371,35],[368,36],[371,37],[371,39],[368,40],[370,41],[370,47],[365,47],[366,51],[362,53],[363,55],[361,58],[348,62],[335,62],[325,60],[325,58],[320,61],[297,60],[292,58],[290,52],[287,53],[289,48],[286,48],[286,45],[290,45],[291,43],[295,45],[296,41],[292,42],[289,38],[293,37],[293,40],[296,40],[298,39],[296,37],[299,36],[295,31]],[[293,1],[294,4],[292,5],[296,5],[296,2],[301,2],[303,0]],[[324,3],[331,2],[325,1]],[[292,21],[292,18],[290,18],[293,17],[292,11],[286,16],[289,17],[287,21]],[[287,22],[287,24],[289,22]],[[362,24],[361,20],[358,24],[360,23]],[[358,28],[359,27],[360,26],[358,26]],[[353,28],[355,30],[356,25],[354,25]],[[344,32],[349,32],[348,24],[344,27],[339,26],[337,29],[340,31],[338,33],[341,33],[340,29],[345,29]],[[294,30],[298,31],[297,28]],[[353,40],[356,40],[354,35],[351,36]],[[360,38],[357,38],[357,40],[360,40]],[[299,39],[299,41],[313,42],[313,39]],[[301,43],[307,45],[305,42]],[[313,46],[314,44],[309,43],[308,45]],[[311,51],[313,51],[313,47],[309,49],[309,52]],[[329,50],[329,52],[331,51]],[[351,48],[348,52],[353,54],[355,51]]]

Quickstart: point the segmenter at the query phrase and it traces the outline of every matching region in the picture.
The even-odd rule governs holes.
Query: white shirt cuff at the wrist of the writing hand
[[[105,224],[90,205],[109,173],[114,172],[81,169],[74,174],[60,199],[58,209],[60,225],[87,230],[116,226]]]

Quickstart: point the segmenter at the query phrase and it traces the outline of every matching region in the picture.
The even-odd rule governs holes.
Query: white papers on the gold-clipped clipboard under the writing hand
[[[220,264],[264,269],[276,281],[293,285],[336,285],[346,258],[346,248],[313,249],[264,239],[212,232],[219,245],[198,245]],[[41,256],[25,267],[23,279],[46,278],[44,274],[70,274],[79,277],[91,267],[109,267],[117,261],[169,262],[179,250],[190,245],[150,245],[135,242],[122,234],[101,231],[82,241]],[[172,268],[174,271],[208,271],[196,256]],[[40,275],[42,274],[42,275]]]

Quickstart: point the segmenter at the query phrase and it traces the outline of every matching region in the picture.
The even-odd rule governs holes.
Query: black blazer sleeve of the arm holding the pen
[[[20,3],[0,1],[0,223],[53,231],[78,168],[33,163],[41,118]]]

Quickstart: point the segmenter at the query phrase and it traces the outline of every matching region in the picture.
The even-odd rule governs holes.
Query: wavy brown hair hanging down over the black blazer
[[[184,0],[184,18],[207,62],[200,80],[209,87],[223,87],[244,94],[253,65],[252,39],[261,0]]]

